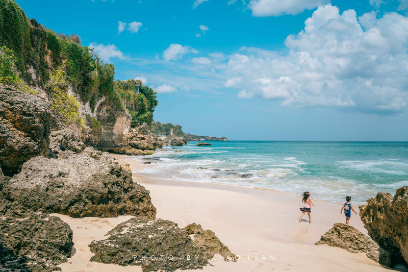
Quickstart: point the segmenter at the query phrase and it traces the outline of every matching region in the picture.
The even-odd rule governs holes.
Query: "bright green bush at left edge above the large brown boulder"
[[[6,46],[0,47],[0,83],[14,85],[19,91],[37,94],[18,77],[13,52]]]

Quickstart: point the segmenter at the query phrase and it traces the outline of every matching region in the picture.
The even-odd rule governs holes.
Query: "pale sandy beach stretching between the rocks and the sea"
[[[115,155],[128,162],[134,181],[150,191],[157,208],[157,218],[169,219],[180,227],[192,222],[215,232],[218,238],[240,256],[237,262],[224,262],[220,256],[210,260],[213,266],[203,271],[387,271],[389,269],[340,248],[314,243],[333,227],[344,222],[341,203],[315,200],[312,223],[307,215],[298,222],[302,207],[299,196],[274,190],[244,188],[219,184],[152,179],[138,175],[141,167],[132,157]],[[312,192],[313,195],[313,192]],[[312,196],[313,197],[313,196]],[[358,207],[354,207],[356,209]],[[356,209],[358,211],[358,209]],[[138,266],[118,266],[90,262],[88,244],[101,239],[120,222],[131,216],[117,218],[71,218],[59,215],[73,230],[74,251],[62,271],[141,271]],[[350,225],[367,233],[358,215]]]

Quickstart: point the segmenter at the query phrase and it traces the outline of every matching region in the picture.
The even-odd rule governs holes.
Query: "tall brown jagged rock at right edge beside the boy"
[[[360,206],[360,217],[368,235],[381,248],[408,263],[408,186],[390,193],[377,193]]]

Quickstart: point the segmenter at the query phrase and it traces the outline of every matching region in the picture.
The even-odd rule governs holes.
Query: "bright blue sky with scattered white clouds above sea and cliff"
[[[75,33],[154,119],[230,140],[408,140],[408,0],[16,0]]]

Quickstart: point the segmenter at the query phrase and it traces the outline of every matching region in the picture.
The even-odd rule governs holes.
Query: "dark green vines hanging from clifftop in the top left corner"
[[[12,0],[0,0],[0,45],[13,51],[17,70],[23,74],[24,55],[31,49],[30,25],[25,13]]]

